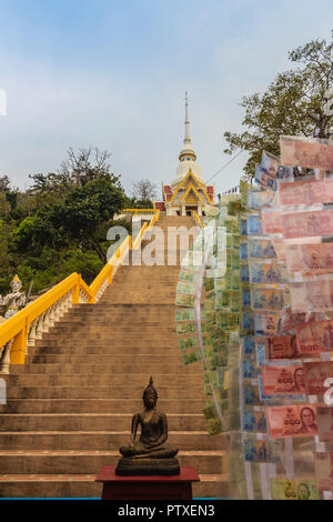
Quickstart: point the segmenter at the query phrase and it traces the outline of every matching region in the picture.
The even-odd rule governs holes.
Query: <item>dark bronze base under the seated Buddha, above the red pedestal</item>
[[[115,468],[117,475],[179,475],[178,459],[131,459],[123,456]]]

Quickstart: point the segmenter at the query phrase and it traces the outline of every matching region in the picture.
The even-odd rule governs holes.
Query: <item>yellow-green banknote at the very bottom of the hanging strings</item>
[[[273,500],[320,500],[314,480],[271,479]]]

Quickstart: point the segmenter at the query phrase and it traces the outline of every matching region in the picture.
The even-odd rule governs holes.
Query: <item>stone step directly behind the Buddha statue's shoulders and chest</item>
[[[26,413],[0,414],[1,431],[124,431],[131,425],[131,413]],[[171,431],[204,431],[204,415],[169,414]],[[2,469],[2,468],[1,468]]]

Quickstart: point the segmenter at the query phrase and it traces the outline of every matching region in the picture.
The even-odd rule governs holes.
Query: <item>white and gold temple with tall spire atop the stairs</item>
[[[167,211],[167,215],[190,215],[193,210],[204,215],[204,208],[214,203],[215,185],[208,185],[202,178],[200,165],[190,137],[189,102],[185,97],[185,138],[179,154],[175,178],[171,184],[162,183],[163,201],[154,202],[154,208]]]

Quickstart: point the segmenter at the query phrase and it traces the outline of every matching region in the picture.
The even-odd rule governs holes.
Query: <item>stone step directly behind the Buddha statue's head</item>
[[[163,399],[199,399],[203,394],[201,387],[189,384],[186,387],[159,388],[159,395]],[[132,399],[142,394],[142,387],[8,387],[7,399]]]

